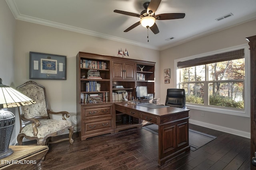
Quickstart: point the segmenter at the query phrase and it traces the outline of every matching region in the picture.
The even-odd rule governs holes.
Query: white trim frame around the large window
[[[186,104],[188,109],[196,109],[196,110],[202,110],[202,111],[210,111],[210,112],[216,112],[216,113],[223,113],[223,114],[229,114],[229,115],[237,115],[237,116],[243,116],[243,117],[250,117],[250,50],[248,44],[244,45],[238,45],[235,47],[230,47],[226,49],[220,49],[217,51],[211,51],[208,53],[203,53],[199,55],[194,55],[190,57],[185,57],[182,59],[176,59],[174,60],[174,66],[176,74],[174,74],[174,81],[175,84],[178,88],[178,81],[179,81],[179,74],[177,72],[178,67],[177,63],[180,61],[186,61],[186,60],[191,60],[195,58],[200,58],[200,57],[205,57],[209,55],[214,55],[214,54],[220,54],[220,53],[225,53],[228,51],[235,51],[238,49],[244,49],[244,61],[245,61],[245,81],[244,81],[244,109],[233,109],[233,108],[222,108],[222,107],[215,107],[215,106],[202,106],[202,105],[197,105],[197,104]]]

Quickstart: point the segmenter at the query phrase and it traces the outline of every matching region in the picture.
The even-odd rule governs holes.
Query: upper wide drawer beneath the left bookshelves
[[[86,108],[83,107],[83,120],[86,117],[111,115],[111,107],[100,107],[100,108]]]

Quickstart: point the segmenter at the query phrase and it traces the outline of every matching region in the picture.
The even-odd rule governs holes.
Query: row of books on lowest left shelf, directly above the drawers
[[[104,102],[109,101],[109,92],[99,94],[85,94],[80,95],[81,103]]]

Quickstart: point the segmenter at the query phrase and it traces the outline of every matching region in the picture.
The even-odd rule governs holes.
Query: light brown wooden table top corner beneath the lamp
[[[48,146],[9,146],[10,156],[0,159],[0,170],[41,169],[41,161],[48,152]]]

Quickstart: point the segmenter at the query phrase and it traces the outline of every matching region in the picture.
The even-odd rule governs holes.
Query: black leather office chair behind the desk
[[[186,108],[185,90],[179,88],[168,88],[165,105],[171,107]]]

